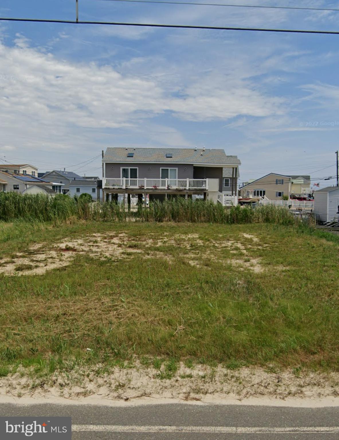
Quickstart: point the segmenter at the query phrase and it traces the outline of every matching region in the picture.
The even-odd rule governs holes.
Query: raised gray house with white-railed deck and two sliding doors
[[[118,194],[138,194],[140,199],[150,194],[161,199],[167,194],[199,194],[218,200],[224,183],[230,185],[226,191],[236,195],[239,165],[236,156],[227,156],[221,149],[107,148],[103,154],[103,198],[117,200]],[[229,182],[224,182],[224,174]]]

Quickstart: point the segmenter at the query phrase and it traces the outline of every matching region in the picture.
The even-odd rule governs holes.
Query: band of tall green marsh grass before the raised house
[[[123,204],[76,200],[67,195],[48,197],[41,194],[0,193],[0,220],[63,222],[75,218],[95,221],[192,222],[192,223],[275,223],[291,225],[298,220],[287,208],[265,205],[227,208],[212,201],[172,198],[151,202],[129,212]]]

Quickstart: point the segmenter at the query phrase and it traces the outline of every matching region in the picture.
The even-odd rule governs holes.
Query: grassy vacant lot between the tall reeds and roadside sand
[[[134,356],[339,369],[336,236],[18,222],[0,223],[0,246],[0,375]]]

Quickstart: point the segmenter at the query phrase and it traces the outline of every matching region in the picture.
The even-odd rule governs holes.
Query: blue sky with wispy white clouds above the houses
[[[2,0],[0,15],[72,20],[75,0]],[[79,0],[79,18],[339,29],[339,12],[104,0]],[[279,172],[327,186],[338,73],[335,35],[2,22],[0,159],[101,175],[100,158],[76,164],[106,147],[205,145],[238,155],[240,181]]]

